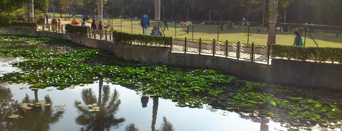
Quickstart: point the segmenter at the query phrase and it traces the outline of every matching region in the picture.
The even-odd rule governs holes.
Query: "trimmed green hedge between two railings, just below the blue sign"
[[[113,31],[113,39],[120,41],[125,44],[142,44],[142,45],[171,45],[171,37],[165,36],[151,36],[151,35],[142,35],[142,34],[130,34],[121,32],[119,30]]]

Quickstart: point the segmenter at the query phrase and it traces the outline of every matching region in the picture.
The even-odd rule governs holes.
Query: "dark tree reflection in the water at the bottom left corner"
[[[52,101],[48,95],[45,96],[45,101],[42,101],[48,105],[35,104],[38,98],[30,99],[27,94],[22,104],[10,99],[11,97],[12,94],[8,88],[0,87],[0,131],[47,131],[50,129],[50,124],[57,123],[64,113],[63,111],[53,111]],[[20,105],[24,103],[32,104],[31,109],[21,108]],[[8,118],[12,114],[20,114],[22,118]]]

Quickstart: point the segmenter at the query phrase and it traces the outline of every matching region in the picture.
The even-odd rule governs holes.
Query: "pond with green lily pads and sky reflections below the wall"
[[[339,91],[124,62],[48,38],[10,38],[0,44],[0,131],[341,130]]]

